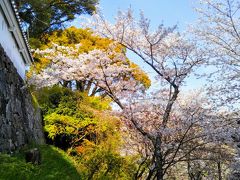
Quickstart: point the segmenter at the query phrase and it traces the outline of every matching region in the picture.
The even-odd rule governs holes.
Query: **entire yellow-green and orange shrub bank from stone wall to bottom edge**
[[[75,158],[81,179],[133,178],[137,166],[120,155],[121,123],[108,112],[109,100],[59,86],[35,95],[48,137]]]

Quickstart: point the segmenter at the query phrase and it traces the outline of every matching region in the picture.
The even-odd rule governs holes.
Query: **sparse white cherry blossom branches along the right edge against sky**
[[[237,104],[240,97],[240,2],[202,0],[201,5],[193,32],[214,69],[212,96],[219,105]]]

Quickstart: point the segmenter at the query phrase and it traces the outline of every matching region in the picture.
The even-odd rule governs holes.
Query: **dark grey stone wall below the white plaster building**
[[[0,45],[0,152],[42,144],[41,112]]]

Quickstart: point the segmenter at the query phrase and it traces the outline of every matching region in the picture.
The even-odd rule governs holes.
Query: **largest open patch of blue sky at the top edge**
[[[196,0],[100,0],[100,8],[106,19],[114,21],[118,10],[131,6],[137,16],[142,10],[151,19],[153,27],[162,22],[167,26],[178,25],[179,30],[196,20]]]

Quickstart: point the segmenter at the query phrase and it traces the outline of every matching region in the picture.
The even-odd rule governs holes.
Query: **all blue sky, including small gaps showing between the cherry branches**
[[[142,11],[145,17],[150,19],[152,29],[163,23],[170,27],[177,25],[177,30],[184,32],[188,25],[197,20],[197,13],[194,10],[197,7],[197,2],[198,0],[100,0],[99,8],[104,17],[112,23],[114,23],[114,17],[119,10],[125,11],[131,7],[135,17],[139,17],[139,13]],[[71,25],[80,27],[80,21],[81,18],[78,18]],[[154,73],[147,68],[146,64],[141,63],[141,60],[133,53],[127,55],[153,79]],[[191,76],[187,79],[184,89],[197,89],[203,85],[203,80]]]

